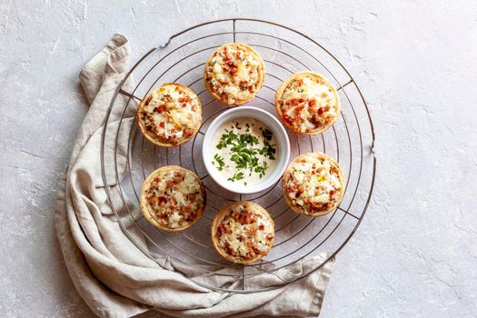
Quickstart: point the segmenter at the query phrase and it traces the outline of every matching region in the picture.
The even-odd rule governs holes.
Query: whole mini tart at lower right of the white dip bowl
[[[283,197],[298,214],[321,216],[332,212],[341,203],[344,188],[340,165],[322,153],[299,155],[282,177]]]

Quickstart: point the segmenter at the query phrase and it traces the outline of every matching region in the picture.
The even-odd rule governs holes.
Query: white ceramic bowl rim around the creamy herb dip
[[[212,144],[212,140],[214,138],[215,132],[226,122],[229,122],[235,118],[243,117],[253,118],[265,124],[268,129],[272,131],[277,144],[277,153],[275,155],[276,162],[273,166],[273,171],[271,171],[270,174],[267,174],[266,177],[264,177],[259,183],[249,184],[246,186],[243,184],[233,184],[227,181],[220,175],[220,172],[212,164],[214,160],[215,147],[215,144]],[[209,125],[209,128],[207,128],[207,131],[205,132],[204,141],[202,144],[202,158],[204,160],[205,169],[209,175],[224,189],[236,194],[254,194],[272,186],[278,181],[278,179],[282,177],[283,172],[285,171],[288,164],[288,159],[290,158],[290,142],[288,140],[288,135],[283,128],[283,124],[280,123],[280,121],[278,121],[278,119],[276,119],[272,114],[269,114],[256,107],[239,106],[218,115]]]

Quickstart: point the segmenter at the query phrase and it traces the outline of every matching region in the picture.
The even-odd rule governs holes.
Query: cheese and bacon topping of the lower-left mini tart
[[[149,212],[164,227],[186,227],[204,208],[204,189],[195,175],[184,170],[157,174],[146,190]]]

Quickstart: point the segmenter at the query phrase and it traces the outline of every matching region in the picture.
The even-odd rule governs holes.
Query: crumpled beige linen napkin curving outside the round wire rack
[[[114,90],[130,67],[130,50],[123,35],[114,35],[81,71],[81,84],[91,106],[55,202],[55,227],[61,250],[84,301],[103,317],[129,317],[150,309],[177,317],[318,316],[333,260],[306,278],[269,292],[218,293],[193,283],[181,273],[164,270],[121,231],[106,202],[100,147],[104,116]],[[130,117],[124,122],[127,128],[132,124],[134,109],[126,114]],[[119,116],[113,111],[113,120],[108,123],[114,126]],[[120,143],[119,151],[124,154],[121,147],[124,143]],[[135,235],[144,240],[140,234]],[[250,283],[262,287],[280,283],[277,276],[307,271],[327,256],[294,263],[275,272],[276,275],[263,273],[251,278]],[[190,268],[180,268],[179,264],[171,265],[198,281],[214,280]]]

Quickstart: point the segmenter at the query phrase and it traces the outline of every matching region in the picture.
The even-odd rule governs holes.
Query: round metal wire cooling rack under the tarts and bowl
[[[283,201],[280,182],[259,194],[233,194],[221,189],[206,173],[201,156],[204,132],[227,107],[206,92],[204,62],[216,47],[230,42],[253,46],[265,61],[265,84],[249,105],[276,115],[275,89],[285,78],[302,70],[321,73],[337,87],[342,114],[333,128],[317,136],[287,131],[291,160],[298,154],[322,151],[342,165],[346,192],[342,204],[333,213],[319,218],[293,213]],[[164,82],[188,85],[203,104],[204,120],[199,134],[175,148],[159,148],[147,142],[135,124],[137,102]],[[373,123],[363,94],[343,65],[322,45],[289,27],[262,20],[211,21],[188,28],[171,36],[166,44],[155,46],[118,85],[102,136],[104,189],[124,234],[154,262],[210,289],[234,293],[265,291],[296,282],[320,269],[353,236],[373,192],[376,169],[373,144]],[[144,220],[139,210],[138,197],[145,177],[168,164],[194,171],[207,190],[203,217],[179,233],[156,229]],[[221,206],[237,200],[261,204],[273,216],[275,243],[261,263],[228,263],[214,251],[211,220]],[[304,261],[310,257],[314,257],[313,261]],[[261,274],[268,275],[269,284],[256,283],[256,276]]]

